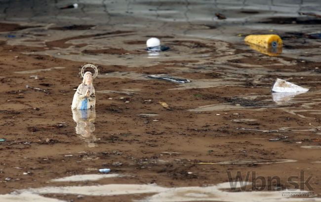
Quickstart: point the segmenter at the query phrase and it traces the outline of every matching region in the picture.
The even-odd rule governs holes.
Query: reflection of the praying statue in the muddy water
[[[93,135],[95,131],[95,109],[72,109],[73,119],[77,123],[76,133],[79,135],[87,147],[97,147],[95,141],[96,136]]]

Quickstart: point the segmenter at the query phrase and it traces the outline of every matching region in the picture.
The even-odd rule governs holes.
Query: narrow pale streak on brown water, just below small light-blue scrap
[[[103,178],[120,177],[120,174],[82,174],[53,179],[53,182],[95,181]]]

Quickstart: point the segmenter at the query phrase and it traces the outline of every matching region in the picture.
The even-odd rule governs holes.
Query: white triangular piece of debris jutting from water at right
[[[272,86],[271,91],[275,93],[286,93],[286,92],[294,93],[294,92],[308,92],[309,89],[303,88],[301,86],[295,85],[283,79],[277,78],[277,80],[274,82]]]

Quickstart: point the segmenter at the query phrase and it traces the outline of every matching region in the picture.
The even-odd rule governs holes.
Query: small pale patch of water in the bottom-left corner
[[[0,195],[0,202],[65,202],[65,201],[46,198],[37,194],[24,192],[24,193],[11,193],[11,194]]]

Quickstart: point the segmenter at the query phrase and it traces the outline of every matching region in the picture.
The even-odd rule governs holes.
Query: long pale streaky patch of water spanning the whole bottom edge
[[[222,202],[321,202],[321,198],[290,198],[284,196],[285,192],[309,193],[308,191],[266,191],[266,192],[229,192],[224,189],[240,188],[250,183],[224,182],[208,187],[179,187],[164,188],[156,184],[109,184],[98,186],[68,186],[68,187],[44,187],[37,189],[21,190],[19,193],[0,195],[0,200],[5,202],[63,202],[56,199],[44,198],[36,194],[72,194],[84,196],[118,196],[129,194],[152,194],[151,197],[144,198],[136,202],[191,202],[191,201],[222,201]],[[8,199],[8,200],[7,200]],[[3,201],[1,200],[1,202]],[[11,201],[10,201],[11,200]],[[14,201],[15,200],[15,201]],[[108,199],[106,199],[108,200]]]

